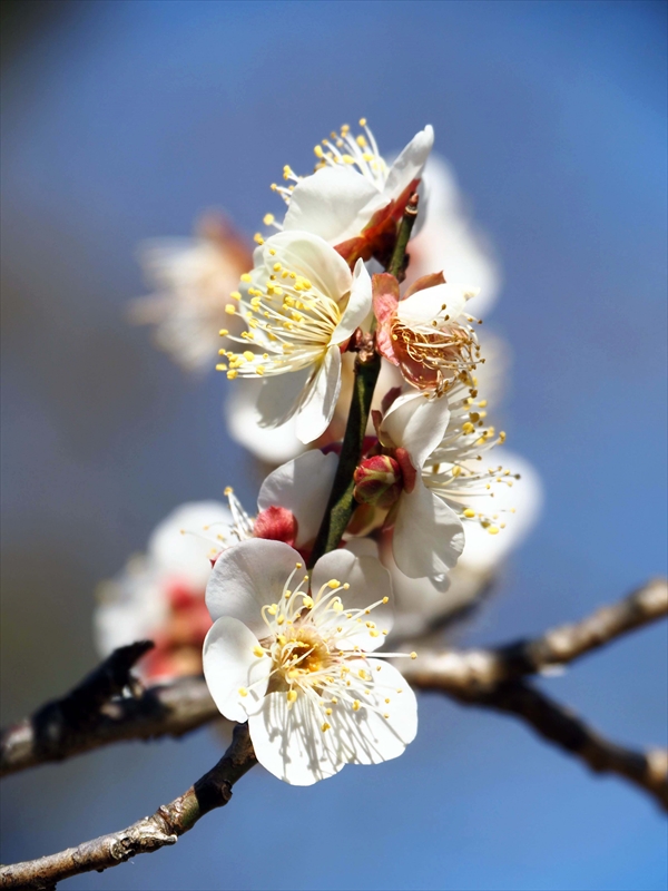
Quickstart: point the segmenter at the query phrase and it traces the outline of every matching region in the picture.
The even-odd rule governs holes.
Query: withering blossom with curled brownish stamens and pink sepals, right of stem
[[[377,346],[419,390],[445,392],[455,380],[472,381],[483,360],[466,312],[478,288],[446,284],[442,273],[418,280],[399,298],[393,275],[373,276],[373,306],[379,321]]]

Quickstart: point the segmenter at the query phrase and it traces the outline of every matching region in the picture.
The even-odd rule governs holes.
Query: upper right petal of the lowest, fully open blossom
[[[340,548],[325,554],[314,566],[311,581],[313,596],[315,597],[321,587],[331,579],[336,579],[342,584],[347,581],[351,586],[348,590],[337,593],[345,611],[366,609],[366,607],[382,600],[384,597],[389,598],[387,604],[382,604],[375,607],[369,616],[363,616],[361,623],[354,621],[354,626],[358,630],[353,634],[346,633],[346,624],[342,623],[344,634],[337,638],[337,646],[341,649],[353,649],[355,646],[367,653],[377,649],[384,644],[385,636],[383,634],[377,637],[371,636],[365,623],[373,621],[376,626],[375,630],[379,631],[390,631],[392,629],[394,615],[390,572],[376,557],[356,557],[350,550]],[[328,594],[330,591],[325,589],[323,597],[327,597]],[[332,619],[333,625],[336,621],[336,619]],[[350,627],[350,623],[347,625]]]

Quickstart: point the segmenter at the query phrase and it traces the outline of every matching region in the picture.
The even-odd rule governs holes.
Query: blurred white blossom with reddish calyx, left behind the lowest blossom
[[[146,554],[99,586],[94,620],[100,654],[148,638],[156,647],[140,663],[145,678],[200,672],[210,627],[204,603],[210,559],[239,540],[238,528],[218,501],[181,505],[158,523]]]

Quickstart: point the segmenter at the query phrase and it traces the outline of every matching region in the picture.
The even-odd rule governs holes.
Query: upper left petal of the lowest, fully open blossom
[[[289,574],[302,558],[283,541],[252,538],[223,551],[206,586],[214,621],[232,616],[258,637],[266,635],[262,607],[276,604]]]

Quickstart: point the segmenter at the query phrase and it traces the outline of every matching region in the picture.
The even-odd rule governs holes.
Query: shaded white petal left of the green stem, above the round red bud
[[[317,535],[337,464],[335,454],[323,454],[314,449],[274,470],[262,484],[257,507],[259,510],[272,506],[291,510],[297,518],[298,547]]]

